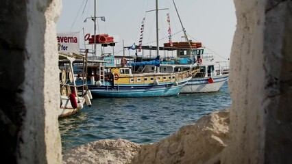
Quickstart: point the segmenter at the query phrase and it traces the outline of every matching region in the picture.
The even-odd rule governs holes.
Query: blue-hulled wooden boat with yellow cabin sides
[[[153,64],[147,64],[141,72],[132,72],[132,68],[123,62],[111,66],[88,63],[88,88],[93,97],[175,96],[192,77],[189,71],[156,72]]]

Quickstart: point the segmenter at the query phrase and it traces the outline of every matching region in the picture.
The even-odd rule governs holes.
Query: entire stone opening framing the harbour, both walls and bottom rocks
[[[292,161],[291,1],[234,0],[234,4],[230,134],[223,121],[226,116],[217,113],[209,121],[199,120],[204,126],[199,122],[184,126],[141,149],[126,141],[101,141],[93,144],[96,148],[88,145],[84,151],[98,155],[92,156],[93,163],[128,163],[138,150],[132,163]],[[58,72],[54,54],[60,7],[57,0],[1,2],[0,143],[7,163],[61,163],[58,76],[53,74]],[[105,150],[108,154],[98,150],[103,144],[110,145]]]

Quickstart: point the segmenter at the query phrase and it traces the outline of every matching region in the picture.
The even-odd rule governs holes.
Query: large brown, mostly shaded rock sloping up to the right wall
[[[143,146],[132,163],[219,163],[229,141],[229,123],[228,109],[206,115],[158,143]]]

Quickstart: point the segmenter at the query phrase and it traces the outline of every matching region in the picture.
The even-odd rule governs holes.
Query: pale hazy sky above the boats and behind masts
[[[213,53],[218,60],[228,59],[236,28],[236,16],[233,0],[174,0],[182,25],[188,39],[202,42],[206,53]],[[80,32],[80,48],[84,48],[84,33],[94,33],[95,0],[62,0],[62,13],[57,23],[58,33]],[[106,21],[97,18],[97,33],[114,36],[115,55],[123,55],[124,46],[138,45],[141,35],[141,21],[145,17],[143,45],[156,46],[155,0],[97,0],[97,16],[104,16]],[[175,12],[172,0],[158,1],[159,9],[159,45],[169,42],[167,13],[170,16],[173,42],[184,41],[182,25]],[[84,23],[84,20],[86,22]],[[86,45],[87,48],[88,44]],[[99,47],[99,46],[98,46]],[[112,48],[107,48],[112,52]],[[100,51],[100,50],[98,50]],[[125,51],[125,54],[135,51]],[[97,53],[98,54],[98,53]],[[140,54],[138,54],[140,55]]]

